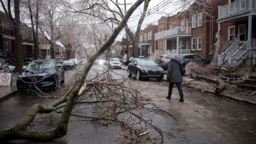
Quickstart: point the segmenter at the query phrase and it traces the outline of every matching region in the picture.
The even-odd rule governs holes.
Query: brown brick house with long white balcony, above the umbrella
[[[193,53],[212,58],[218,30],[218,0],[202,6],[204,0],[197,0],[188,10],[171,17],[161,17],[158,33],[155,34],[156,50],[175,54]]]

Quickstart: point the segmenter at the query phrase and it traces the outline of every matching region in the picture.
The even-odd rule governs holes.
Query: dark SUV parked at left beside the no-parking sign
[[[53,88],[59,83],[65,83],[63,67],[56,60],[35,60],[17,77],[17,90],[28,88]]]

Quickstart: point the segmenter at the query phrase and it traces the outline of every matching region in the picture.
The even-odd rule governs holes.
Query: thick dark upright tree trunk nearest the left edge
[[[15,22],[13,24],[15,31],[15,55],[16,55],[16,72],[21,72],[23,67],[22,38],[20,35],[20,0],[14,1]]]

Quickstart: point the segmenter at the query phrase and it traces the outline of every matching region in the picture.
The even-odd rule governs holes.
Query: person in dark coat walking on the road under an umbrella
[[[178,90],[179,90],[179,95],[180,95],[180,102],[184,102],[184,95],[183,95],[183,91],[182,91],[182,73],[183,72],[183,68],[181,67],[180,63],[179,63],[179,58],[177,58],[177,56],[172,55],[171,56],[171,60],[170,63],[168,65],[168,81],[169,81],[169,92],[168,92],[168,97],[166,97],[166,99],[171,99],[172,97],[172,89],[173,89],[173,85],[176,84]]]

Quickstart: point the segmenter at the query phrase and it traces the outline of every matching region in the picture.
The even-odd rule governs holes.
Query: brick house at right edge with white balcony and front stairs
[[[218,7],[218,42],[223,52],[218,56],[230,65],[256,58],[256,1],[223,0]]]

